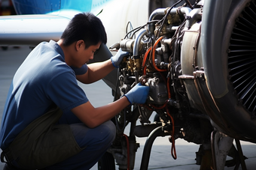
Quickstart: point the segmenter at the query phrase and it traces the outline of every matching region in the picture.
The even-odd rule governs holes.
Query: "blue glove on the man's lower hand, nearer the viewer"
[[[131,104],[138,103],[143,104],[148,97],[149,87],[138,83],[128,93],[124,94]]]

